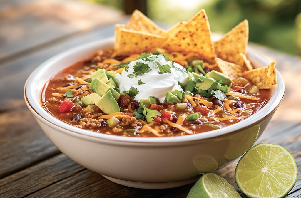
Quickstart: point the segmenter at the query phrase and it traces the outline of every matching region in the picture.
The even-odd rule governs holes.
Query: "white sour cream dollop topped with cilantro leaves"
[[[128,65],[128,71],[123,70],[121,73],[121,81],[119,85],[120,93],[123,91],[129,91],[130,87],[138,89],[139,94],[135,96],[135,100],[147,99],[149,96],[156,97],[160,103],[165,99],[168,91],[179,90],[183,91],[178,81],[183,85],[186,85],[188,81],[188,74],[186,69],[178,63],[167,61],[165,57],[160,54],[154,61],[160,62],[162,65],[168,64],[171,73],[159,74],[160,69],[154,63],[154,61],[144,61],[145,59],[138,59],[132,61]],[[146,63],[152,70],[148,73],[144,73],[142,76],[128,77],[129,74],[134,72],[133,66],[136,63]],[[142,85],[138,85],[138,80],[144,82]]]

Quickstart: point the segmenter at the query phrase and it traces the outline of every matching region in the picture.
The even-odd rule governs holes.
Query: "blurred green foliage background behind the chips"
[[[126,10],[128,1],[85,0]],[[171,26],[204,8],[213,32],[226,33],[244,19],[249,40],[288,54],[301,55],[301,0],[146,0],[146,14]]]

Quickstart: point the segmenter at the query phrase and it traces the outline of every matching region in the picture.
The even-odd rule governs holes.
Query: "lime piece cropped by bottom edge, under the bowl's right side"
[[[241,198],[227,180],[214,173],[205,173],[190,189],[187,198]]]

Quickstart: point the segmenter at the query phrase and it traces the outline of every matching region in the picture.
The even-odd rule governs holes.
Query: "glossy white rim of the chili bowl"
[[[24,85],[24,99],[26,102],[27,107],[29,110],[36,116],[37,119],[41,120],[42,122],[47,122],[49,126],[53,128],[53,126],[59,127],[61,132],[67,133],[69,132],[70,135],[82,135],[84,136],[89,136],[93,137],[95,141],[97,140],[107,140],[107,141],[117,141],[117,142],[129,142],[129,143],[176,143],[176,142],[191,142],[191,141],[199,141],[199,140],[205,140],[205,139],[211,139],[211,138],[217,138],[220,136],[224,135],[229,135],[231,133],[235,133],[237,131],[244,130],[246,128],[249,128],[252,125],[258,124],[262,120],[266,119],[268,116],[271,116],[275,110],[279,107],[281,104],[281,101],[283,100],[284,97],[284,92],[285,92],[285,86],[284,86],[284,80],[277,71],[277,85],[273,87],[274,89],[274,94],[271,94],[271,97],[267,104],[265,104],[264,107],[262,107],[259,111],[257,111],[254,115],[248,117],[247,119],[244,119],[240,122],[237,122],[233,125],[229,125],[224,128],[216,129],[213,131],[207,131],[203,133],[198,133],[198,134],[193,134],[193,135],[184,135],[184,136],[175,136],[175,137],[154,137],[154,138],[144,138],[144,137],[125,137],[125,136],[117,136],[117,135],[108,135],[108,134],[103,134],[103,133],[96,133],[93,131],[89,131],[86,129],[81,129],[77,128],[73,125],[67,124],[66,122],[63,122],[54,116],[52,116],[50,113],[48,113],[40,104],[40,100],[36,102],[33,100],[32,94],[32,84],[34,82],[34,76],[38,75],[41,70],[45,70],[45,68],[49,69],[49,67],[59,61],[63,60],[64,57],[67,55],[73,54],[78,51],[84,51],[85,49],[92,48],[92,47],[97,47],[99,46],[99,49],[101,49],[101,46],[104,45],[113,45],[114,38],[110,37],[107,39],[101,39],[97,41],[92,41],[88,42],[82,45],[78,45],[76,47],[70,48],[66,51],[63,51],[42,64],[40,64],[28,77],[28,79],[25,82]],[[261,57],[260,55],[256,54],[250,49],[247,49],[247,56],[251,56],[253,59],[265,63],[267,66],[269,62]],[[76,62],[76,61],[75,61]],[[69,67],[67,65],[66,67]],[[63,67],[62,69],[64,69]],[[51,78],[49,76],[48,80]],[[42,93],[42,90],[39,92],[39,97],[40,94]],[[64,130],[63,130],[64,129]],[[72,133],[70,133],[72,132]]]

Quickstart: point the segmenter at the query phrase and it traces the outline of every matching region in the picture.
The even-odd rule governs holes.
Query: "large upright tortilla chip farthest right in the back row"
[[[216,56],[222,60],[243,65],[240,53],[246,55],[249,38],[248,21],[244,20],[225,34],[222,39],[214,42]]]

